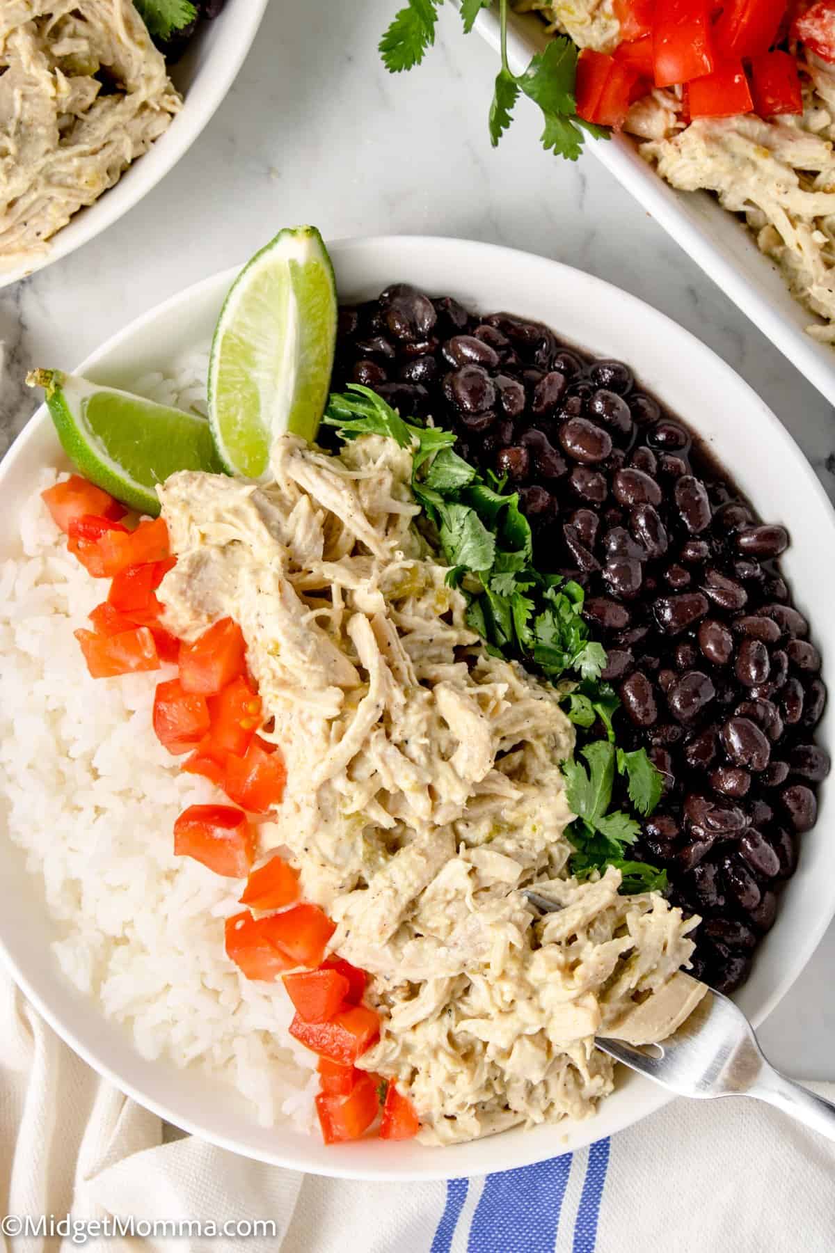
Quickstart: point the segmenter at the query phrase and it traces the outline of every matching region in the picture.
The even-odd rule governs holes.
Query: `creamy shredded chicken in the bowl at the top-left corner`
[[[105,85],[106,84],[106,85]],[[0,4],[0,261],[93,204],[180,107],[130,0]]]

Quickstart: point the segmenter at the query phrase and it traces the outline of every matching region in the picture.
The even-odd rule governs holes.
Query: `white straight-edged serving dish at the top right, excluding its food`
[[[498,19],[484,10],[478,30],[498,48]],[[548,41],[536,14],[512,14],[507,50],[521,71]],[[677,192],[638,155],[627,135],[586,138],[591,153],[701,266],[776,348],[835,405],[835,347],[817,343],[806,327],[820,322],[789,292],[782,271],[757,248],[751,232],[707,192]]]

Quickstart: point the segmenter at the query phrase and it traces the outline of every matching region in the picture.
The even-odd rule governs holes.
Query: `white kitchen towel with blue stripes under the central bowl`
[[[835,1144],[757,1101],[677,1100],[588,1149],[484,1178],[352,1183],[164,1139],[160,1119],[99,1079],[1,971],[0,1022],[3,1215],[274,1224],[247,1239],[174,1240],[168,1225],[86,1245],[103,1253],[835,1250]],[[3,1233],[9,1253],[80,1247]]]

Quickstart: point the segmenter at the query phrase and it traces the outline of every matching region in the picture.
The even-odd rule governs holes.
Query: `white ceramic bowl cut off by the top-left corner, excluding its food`
[[[184,103],[168,130],[128,167],[115,187],[79,209],[48,242],[43,256],[23,266],[0,267],[0,288],[75,252],[131,209],[177,165],[234,83],[267,4],[268,0],[227,0],[215,19],[199,24],[185,55],[169,69]]]

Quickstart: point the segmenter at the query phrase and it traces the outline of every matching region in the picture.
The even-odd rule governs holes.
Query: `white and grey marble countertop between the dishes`
[[[493,53],[443,6],[423,66],[391,76],[374,53],[396,0],[272,0],[243,70],[180,164],[79,252],[0,291],[0,455],[31,416],[33,365],[71,368],[165,297],[242,262],[275,229],[325,237],[446,234],[577,266],[709,343],[792,432],[835,499],[830,405],[745,320],[592,155],[546,155],[521,101],[487,137]],[[762,1027],[789,1073],[835,1079],[835,927]]]

